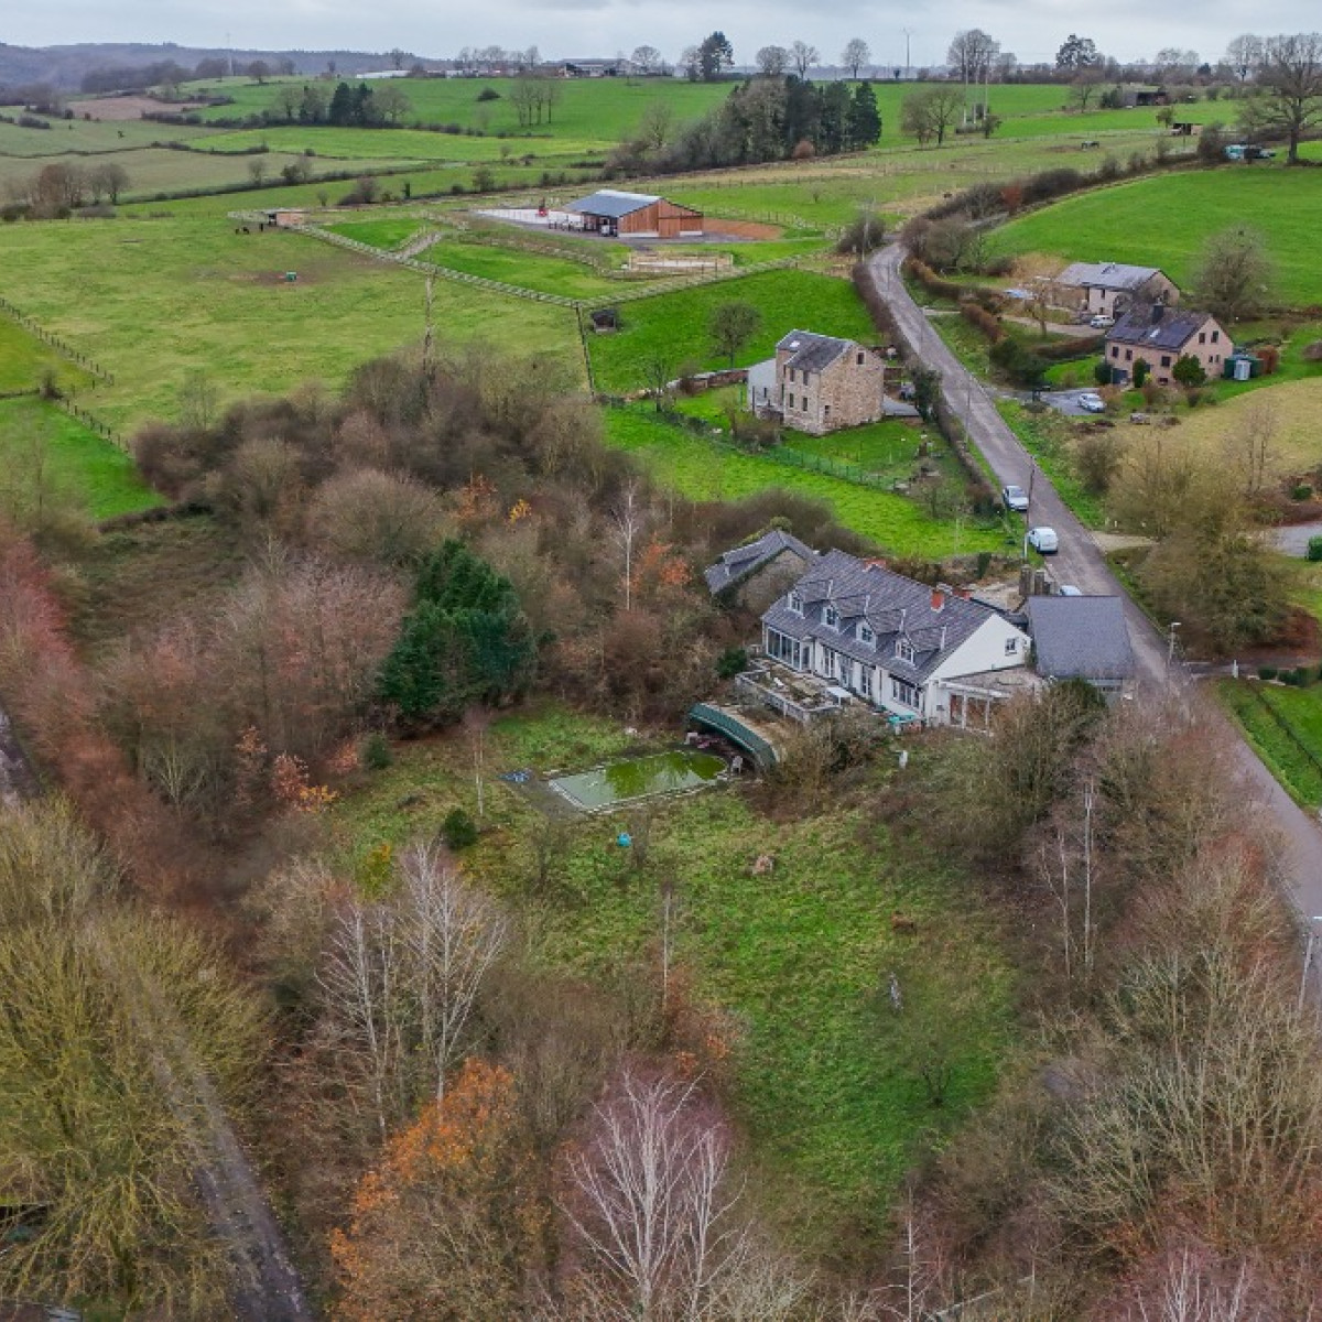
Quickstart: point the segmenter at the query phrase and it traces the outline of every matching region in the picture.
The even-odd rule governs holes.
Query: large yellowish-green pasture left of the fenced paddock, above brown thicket
[[[239,235],[223,219],[7,225],[0,263],[8,297],[114,374],[79,402],[120,430],[176,416],[193,370],[223,399],[337,386],[423,329],[415,272],[297,234]],[[582,361],[563,308],[461,284],[446,286],[442,307],[446,340]]]

